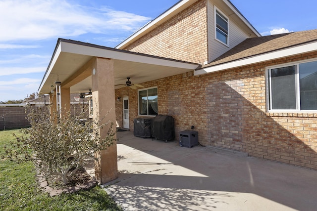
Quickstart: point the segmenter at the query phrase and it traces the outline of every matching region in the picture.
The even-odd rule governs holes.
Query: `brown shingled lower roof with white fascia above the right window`
[[[317,50],[317,30],[249,38],[197,69],[195,75]]]

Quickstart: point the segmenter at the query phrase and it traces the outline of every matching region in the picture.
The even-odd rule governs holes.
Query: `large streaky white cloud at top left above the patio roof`
[[[0,14],[0,42],[106,34],[110,30],[135,31],[150,20],[107,7],[83,7],[65,0],[1,0]]]

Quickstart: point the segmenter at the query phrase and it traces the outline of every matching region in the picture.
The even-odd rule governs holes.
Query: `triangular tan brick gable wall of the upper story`
[[[207,43],[207,1],[199,0],[125,50],[203,64]]]

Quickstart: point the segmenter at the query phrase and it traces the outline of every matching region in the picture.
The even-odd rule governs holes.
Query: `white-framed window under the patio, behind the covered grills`
[[[139,115],[158,115],[158,88],[147,88],[138,90]]]

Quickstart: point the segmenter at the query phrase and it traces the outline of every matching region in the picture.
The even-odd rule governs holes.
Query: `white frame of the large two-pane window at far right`
[[[296,62],[289,62],[280,65],[269,66],[265,68],[265,89],[266,89],[266,111],[271,113],[316,113],[317,110],[301,110],[301,97],[300,97],[300,78],[299,78],[299,65],[308,62],[315,62],[314,59],[306,59]],[[271,69],[295,66],[295,86],[296,86],[296,109],[271,109],[272,108],[272,93],[271,93]]]

